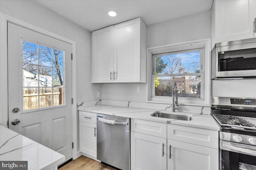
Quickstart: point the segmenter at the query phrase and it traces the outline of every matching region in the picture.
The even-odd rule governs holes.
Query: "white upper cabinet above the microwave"
[[[254,18],[255,0],[215,0],[212,7],[213,45],[256,37]]]

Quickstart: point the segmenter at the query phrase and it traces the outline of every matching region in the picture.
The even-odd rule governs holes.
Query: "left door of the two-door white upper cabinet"
[[[113,25],[92,32],[92,83],[113,82]]]

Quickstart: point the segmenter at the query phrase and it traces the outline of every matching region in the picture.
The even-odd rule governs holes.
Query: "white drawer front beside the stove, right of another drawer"
[[[218,149],[219,133],[196,127],[167,125],[167,139]]]

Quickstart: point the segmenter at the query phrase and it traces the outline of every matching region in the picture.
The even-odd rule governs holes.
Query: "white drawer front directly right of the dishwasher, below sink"
[[[131,131],[166,138],[167,124],[140,119],[131,119]]]

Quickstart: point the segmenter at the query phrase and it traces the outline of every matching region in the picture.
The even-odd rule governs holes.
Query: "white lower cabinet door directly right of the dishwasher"
[[[131,132],[131,169],[166,170],[166,139]]]

